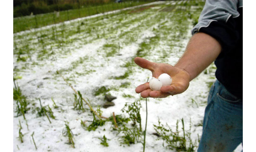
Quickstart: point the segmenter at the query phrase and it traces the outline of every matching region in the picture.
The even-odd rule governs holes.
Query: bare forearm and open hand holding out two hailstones
[[[149,83],[139,85],[135,91],[141,97],[167,97],[180,94],[187,90],[189,82],[208,67],[220,54],[219,42],[205,33],[192,36],[187,44],[185,53],[173,67],[165,63],[150,62],[136,57],[134,62],[144,69],[152,71],[152,76],[158,78],[160,74],[167,73],[173,78],[171,85],[163,86],[160,91],[152,91]]]

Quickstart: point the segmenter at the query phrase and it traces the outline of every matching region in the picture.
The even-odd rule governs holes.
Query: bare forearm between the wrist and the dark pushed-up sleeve
[[[205,33],[196,33],[174,67],[187,71],[191,81],[218,57],[220,51],[221,46],[216,39]]]

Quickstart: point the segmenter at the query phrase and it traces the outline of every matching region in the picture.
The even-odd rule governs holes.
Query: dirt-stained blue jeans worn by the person
[[[232,152],[243,141],[243,102],[217,80],[208,97],[198,152]]]

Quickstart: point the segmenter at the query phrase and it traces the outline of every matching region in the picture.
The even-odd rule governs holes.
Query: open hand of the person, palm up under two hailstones
[[[161,74],[166,73],[171,76],[171,85],[162,86],[160,90],[154,91],[149,87],[149,83],[137,86],[136,93],[140,93],[143,98],[165,98],[169,95],[180,94],[187,90],[190,83],[190,74],[184,69],[173,67],[170,64],[150,62],[146,59],[136,57],[134,62],[143,69],[152,71],[152,77],[158,78]]]

